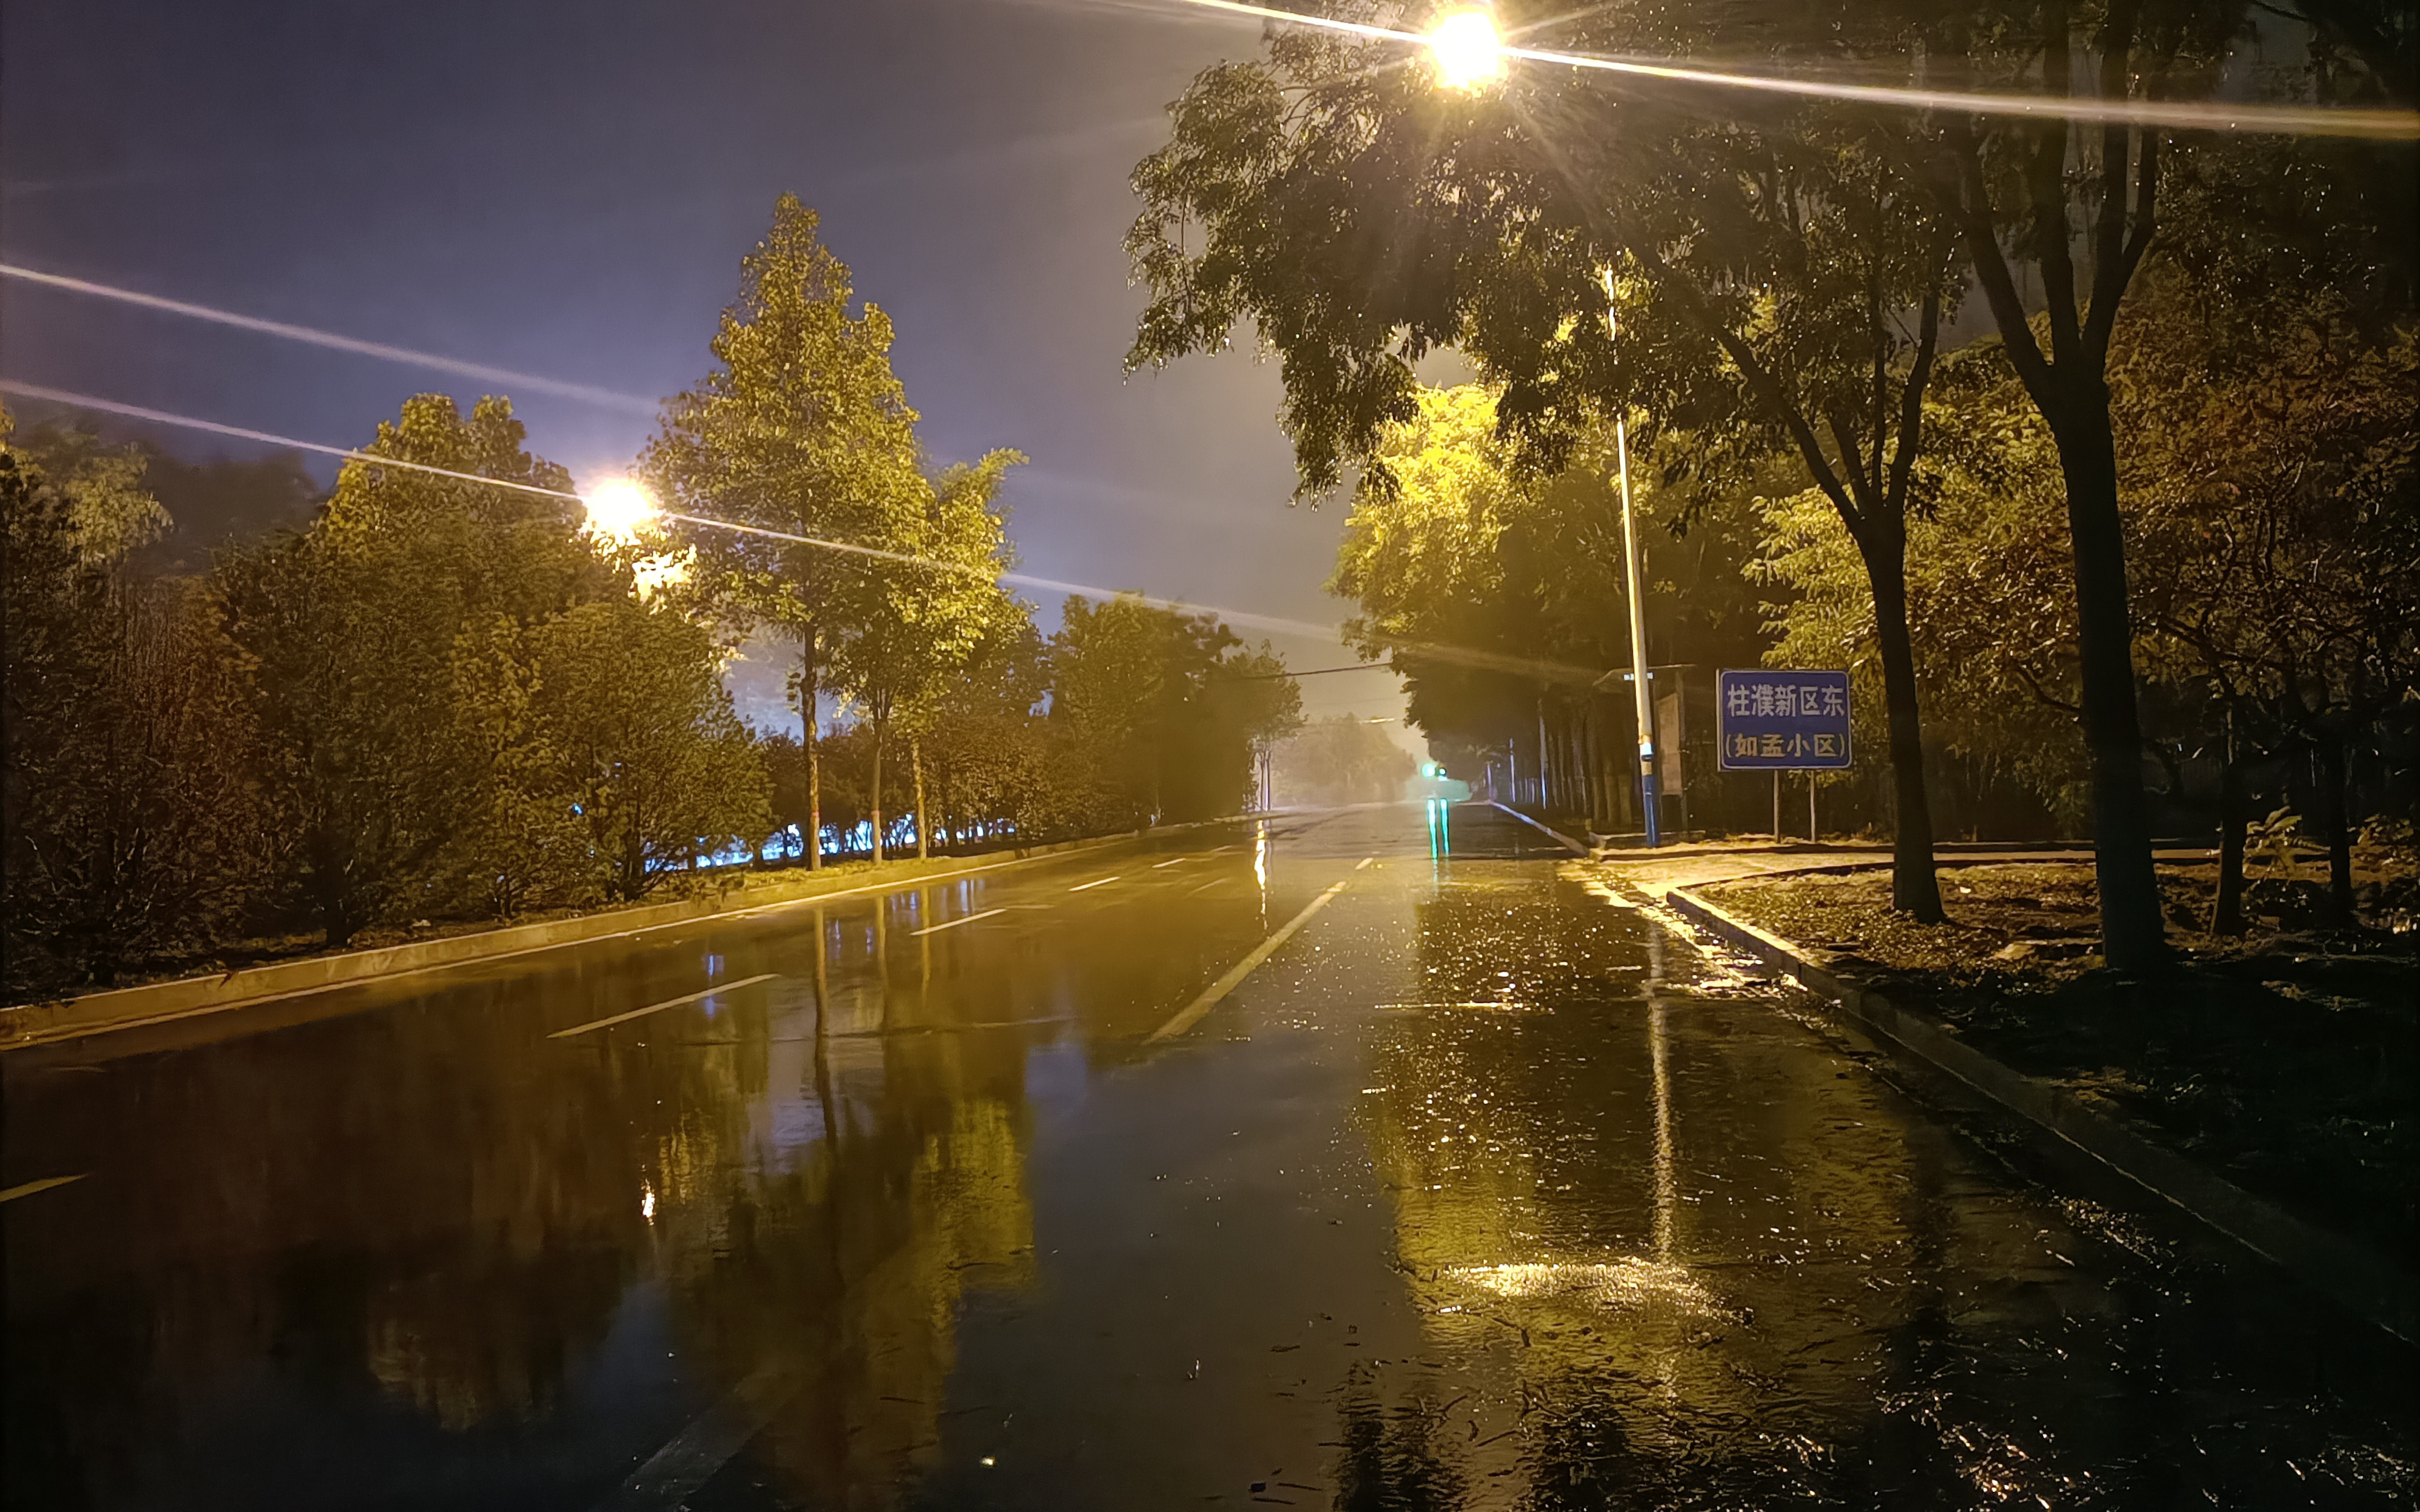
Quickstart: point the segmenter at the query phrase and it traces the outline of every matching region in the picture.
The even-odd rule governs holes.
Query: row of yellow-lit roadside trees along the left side
[[[1283,663],[1140,598],[1045,636],[999,583],[1014,452],[934,467],[888,344],[784,198],[639,464],[690,520],[636,537],[590,527],[506,399],[407,402],[305,523],[208,559],[145,477],[191,467],[0,414],[7,989],[636,900],[770,849],[1237,810],[1300,721]],[[748,636],[796,651],[796,733],[738,719]]]

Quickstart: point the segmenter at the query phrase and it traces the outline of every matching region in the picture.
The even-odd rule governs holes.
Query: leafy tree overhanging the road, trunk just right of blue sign
[[[1619,10],[1563,29],[1631,51],[1667,24]],[[1280,31],[1266,68],[1205,70],[1171,106],[1171,143],[1135,169],[1128,249],[1152,305],[1128,363],[1217,351],[1256,319],[1304,494],[1350,464],[1365,491],[1392,486],[1382,438],[1413,419],[1435,346],[1500,385],[1503,431],[1546,474],[1631,409],[1650,443],[1696,438],[1670,467],[1706,498],[1796,457],[1873,578],[1895,900],[1938,919],[1902,612],[1921,394],[1955,298],[1934,201],[1854,111],[1750,99],[1709,119],[1694,97],[1563,77],[1457,97],[1382,51]]]

